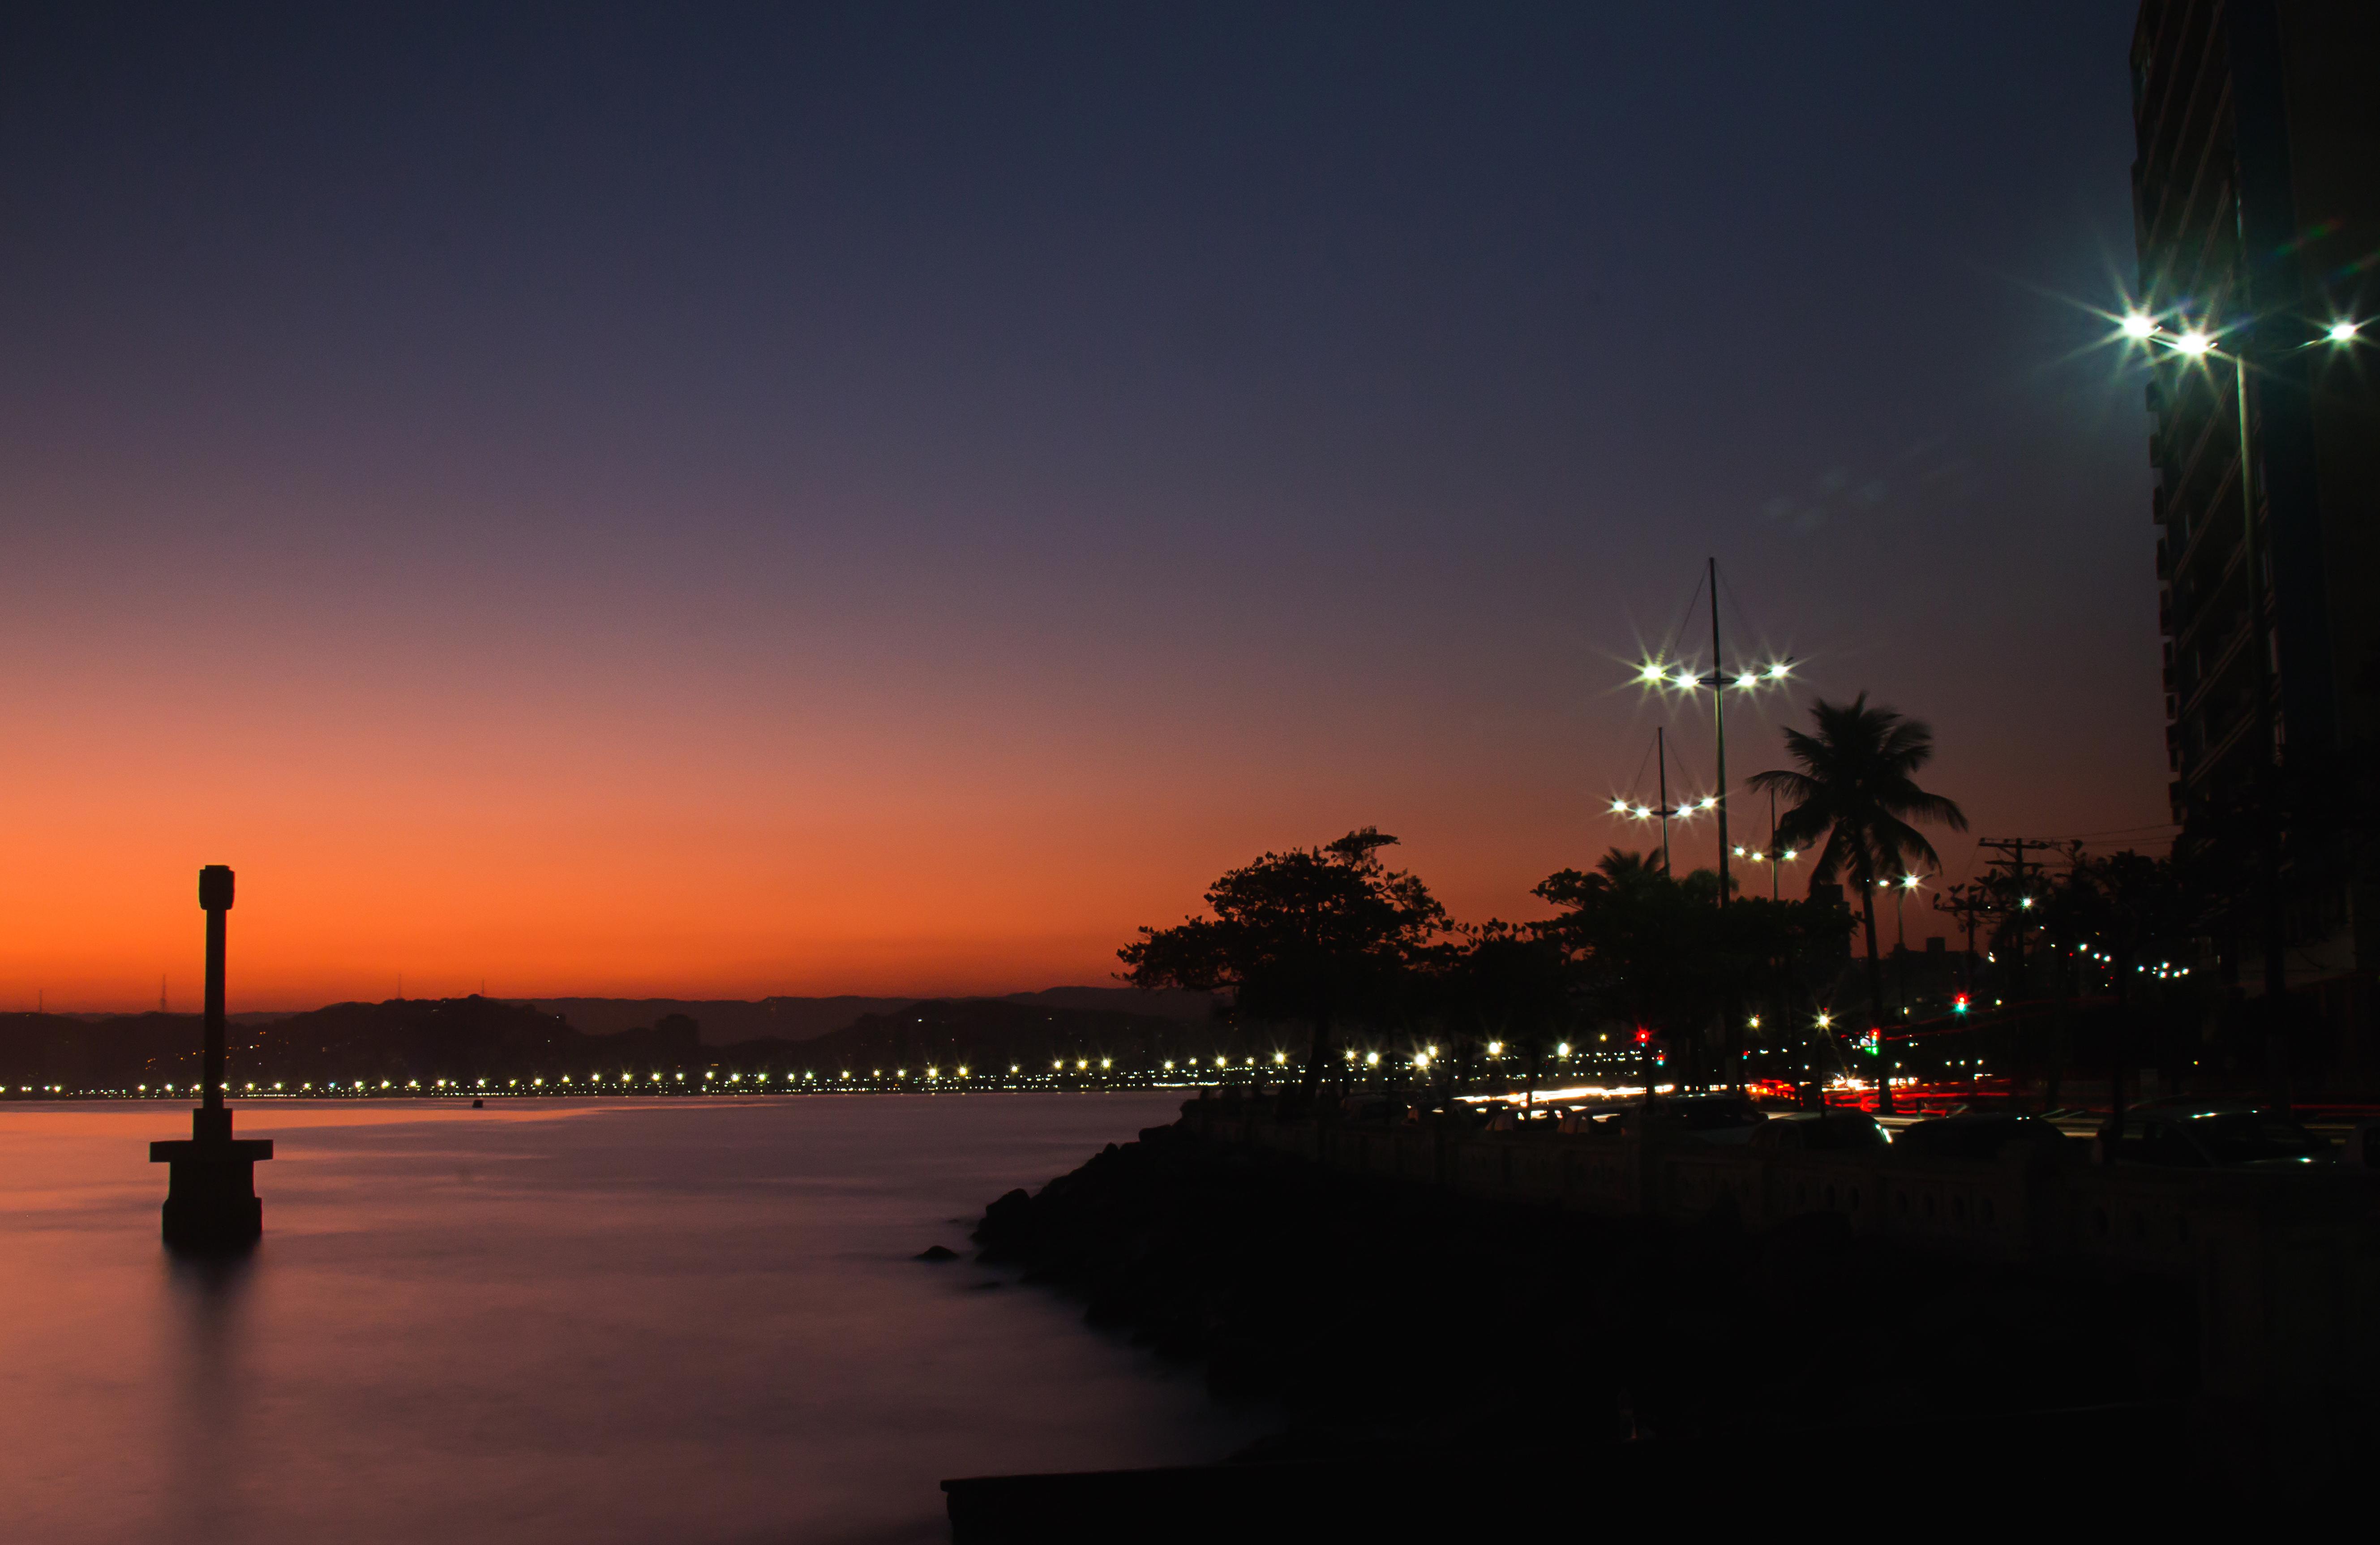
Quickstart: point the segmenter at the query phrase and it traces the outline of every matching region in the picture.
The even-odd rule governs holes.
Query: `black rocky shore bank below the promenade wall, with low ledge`
[[[1840,1216],[1599,1219],[1150,1128],[1000,1197],[976,1240],[1283,1431],[1207,1469],[952,1481],[962,1545],[1654,1519],[1680,1488],[1940,1507],[1980,1476],[2052,1502],[2109,1469],[2154,1512],[2263,1483],[2202,1466],[2173,1283],[1954,1262]]]

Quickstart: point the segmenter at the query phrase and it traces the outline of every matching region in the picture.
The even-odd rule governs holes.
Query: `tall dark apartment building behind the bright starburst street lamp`
[[[2216,343],[2152,345],[2185,819],[2266,759],[2380,736],[2380,0],[2142,0],[2132,121],[2140,302],[2166,340]],[[2330,983],[2325,1019],[2370,1019],[2375,900],[2342,883],[2292,919],[2290,976]]]

